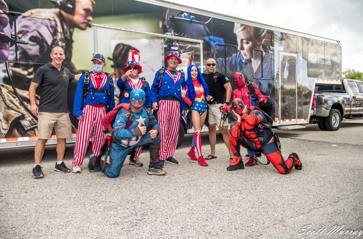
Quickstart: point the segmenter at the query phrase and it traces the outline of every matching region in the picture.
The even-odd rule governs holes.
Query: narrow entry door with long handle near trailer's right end
[[[280,123],[297,123],[297,71],[296,55],[280,52],[279,68],[279,104]]]

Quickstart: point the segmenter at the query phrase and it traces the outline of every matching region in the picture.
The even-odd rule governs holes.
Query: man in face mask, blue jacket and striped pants
[[[84,72],[79,78],[74,96],[73,113],[79,120],[79,124],[76,145],[74,146],[72,173],[82,172],[80,166],[90,138],[91,155],[99,154],[99,149],[105,138],[102,118],[115,107],[113,80],[110,74],[103,72],[103,68],[106,66],[105,57],[101,54],[95,54],[91,61],[93,70]],[[84,94],[85,96],[83,96]]]

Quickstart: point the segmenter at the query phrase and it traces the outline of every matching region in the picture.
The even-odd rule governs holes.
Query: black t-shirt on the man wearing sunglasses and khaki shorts
[[[230,82],[227,76],[220,72],[212,74],[202,73],[202,76],[208,85],[209,95],[211,95],[217,103],[223,104],[225,102],[224,95],[226,93],[224,84]]]

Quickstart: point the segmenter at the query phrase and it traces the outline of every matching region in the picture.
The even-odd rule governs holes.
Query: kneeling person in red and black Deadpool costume
[[[263,130],[263,140],[260,141],[260,123],[268,123],[261,110],[255,106],[251,106],[248,112],[242,112],[244,104],[241,99],[233,100],[233,109],[237,114],[241,115],[241,122],[235,121],[231,123],[231,136],[229,142],[233,152],[233,159],[230,166],[227,167],[228,171],[244,169],[242,157],[240,154],[240,145],[246,149],[260,152],[273,164],[277,171],[281,174],[288,174],[295,166],[295,169],[301,170],[302,163],[296,153],[291,153],[285,161],[282,157],[272,134],[268,128]]]

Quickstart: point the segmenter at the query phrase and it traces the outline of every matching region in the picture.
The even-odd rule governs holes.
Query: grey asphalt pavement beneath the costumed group
[[[189,134],[174,154],[179,164],[166,163],[162,176],[146,173],[147,150],[143,167],[126,162],[118,178],[89,173],[87,156],[82,173],[62,174],[54,171],[56,147],[46,146],[45,177],[34,179],[33,147],[2,149],[0,238],[363,238],[363,121],[344,120],[335,132],[317,125],[276,132],[284,157],[299,155],[301,171],[227,171],[220,133],[208,167],[187,156]],[[208,133],[202,151],[210,153]]]

